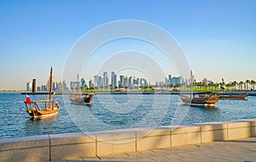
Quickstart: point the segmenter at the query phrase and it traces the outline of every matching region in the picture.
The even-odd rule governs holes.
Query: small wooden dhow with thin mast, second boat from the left
[[[83,93],[79,92],[79,74],[77,75],[77,91],[70,93],[69,99],[72,103],[90,103],[94,94],[93,93]]]

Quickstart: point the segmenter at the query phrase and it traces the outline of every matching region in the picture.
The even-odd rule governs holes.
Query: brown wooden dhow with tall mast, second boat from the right
[[[195,92],[193,93],[193,82],[192,82],[192,70],[190,71],[190,93],[189,96],[185,94],[179,94],[183,103],[191,105],[201,106],[213,106],[214,103],[218,102],[218,95],[212,94],[212,92]]]

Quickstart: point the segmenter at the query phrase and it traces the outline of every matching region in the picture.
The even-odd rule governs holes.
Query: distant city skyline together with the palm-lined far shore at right
[[[109,75],[108,75],[109,74]],[[109,76],[109,77],[108,77]],[[210,86],[210,87],[241,87],[252,88],[255,87],[255,81],[212,81],[208,78],[203,78],[199,81],[195,75],[191,76],[194,86]],[[181,76],[167,75],[164,81],[152,82],[148,78],[143,78],[136,75],[117,75],[115,71],[103,72],[102,75],[94,75],[93,79],[90,78],[85,80],[84,77],[79,79],[79,74],[77,75],[76,81],[70,81],[69,84],[66,81],[53,81],[53,91],[77,91],[78,87],[81,90],[85,89],[113,89],[117,90],[120,88],[124,89],[138,89],[138,88],[149,88],[149,87],[174,87],[174,88],[184,88],[190,87],[190,78],[183,78]],[[47,84],[37,85],[37,79],[33,78],[32,82],[26,81],[26,91],[32,91],[35,87],[36,91],[47,91]],[[233,84],[235,83],[235,84]],[[69,86],[67,86],[69,85]]]

